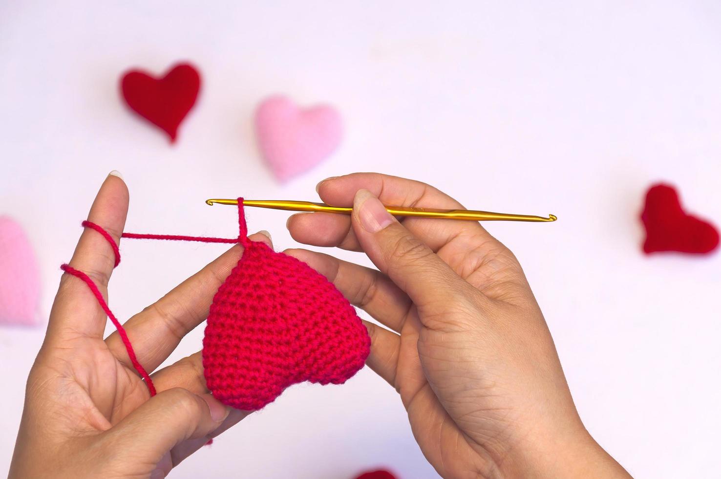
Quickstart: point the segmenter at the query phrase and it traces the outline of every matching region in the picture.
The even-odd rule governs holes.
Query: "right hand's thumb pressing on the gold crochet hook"
[[[456,274],[428,245],[417,239],[386,211],[368,190],[359,190],[353,203],[353,229],[368,258],[405,291],[428,328],[457,326],[448,315],[482,296]]]

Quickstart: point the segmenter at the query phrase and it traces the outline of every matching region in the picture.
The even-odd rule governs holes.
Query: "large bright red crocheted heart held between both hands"
[[[242,199],[239,200],[242,204]],[[371,339],[353,306],[305,263],[247,239],[211,304],[203,338],[208,389],[257,410],[298,382],[342,384],[366,363]]]

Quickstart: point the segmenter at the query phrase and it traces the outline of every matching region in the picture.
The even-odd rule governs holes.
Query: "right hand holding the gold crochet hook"
[[[294,239],[366,252],[376,271],[289,250],[389,329],[366,322],[368,366],[399,392],[440,475],[628,477],[576,412],[546,322],[513,253],[473,221],[394,219],[394,206],[463,208],[435,188],[356,173],[318,185],[353,215],[291,216]],[[379,201],[380,200],[380,201]]]

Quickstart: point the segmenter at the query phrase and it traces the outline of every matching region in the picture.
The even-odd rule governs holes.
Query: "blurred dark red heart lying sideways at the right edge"
[[[641,214],[646,228],[643,250],[707,253],[719,245],[719,232],[707,221],[686,214],[670,185],[654,185],[646,193]]]

